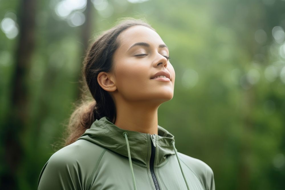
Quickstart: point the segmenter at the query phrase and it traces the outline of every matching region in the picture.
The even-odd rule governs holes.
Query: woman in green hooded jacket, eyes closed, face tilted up
[[[215,189],[212,169],[177,152],[158,125],[175,72],[149,24],[125,19],[101,34],[83,75],[96,102],[79,119],[83,108],[74,112],[66,146],[44,165],[38,189]]]

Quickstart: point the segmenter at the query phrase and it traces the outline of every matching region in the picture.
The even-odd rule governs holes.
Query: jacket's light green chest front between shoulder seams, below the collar
[[[128,190],[134,189],[133,175],[129,160],[118,155],[104,155],[99,163],[91,190]],[[192,190],[204,190],[199,176],[193,173],[186,165],[182,169],[188,186]],[[166,164],[161,167],[151,168],[133,165],[135,183],[138,190],[160,189],[160,190],[187,190],[182,172],[177,159],[169,156]]]

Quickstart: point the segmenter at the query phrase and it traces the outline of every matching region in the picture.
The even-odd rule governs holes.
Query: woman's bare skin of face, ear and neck
[[[158,107],[173,98],[175,71],[167,47],[160,36],[145,26],[131,26],[118,36],[113,55],[114,70],[101,72],[99,85],[109,92],[116,106],[115,125],[131,131],[158,134]],[[150,46],[133,46],[146,42]],[[143,56],[135,56],[146,54]],[[165,57],[166,56],[166,57]],[[151,79],[158,71],[168,71],[170,82]]]

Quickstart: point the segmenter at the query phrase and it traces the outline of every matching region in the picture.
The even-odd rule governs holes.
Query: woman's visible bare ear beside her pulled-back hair
[[[111,73],[106,73],[104,71],[100,72],[97,76],[97,82],[105,90],[113,92],[117,90],[115,85],[115,77]]]

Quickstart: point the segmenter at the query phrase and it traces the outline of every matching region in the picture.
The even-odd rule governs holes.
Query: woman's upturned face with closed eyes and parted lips
[[[116,93],[126,101],[162,103],[172,99],[175,71],[160,36],[137,25],[124,30],[117,40],[119,47],[113,55]],[[159,71],[168,72],[170,79],[152,79]]]

